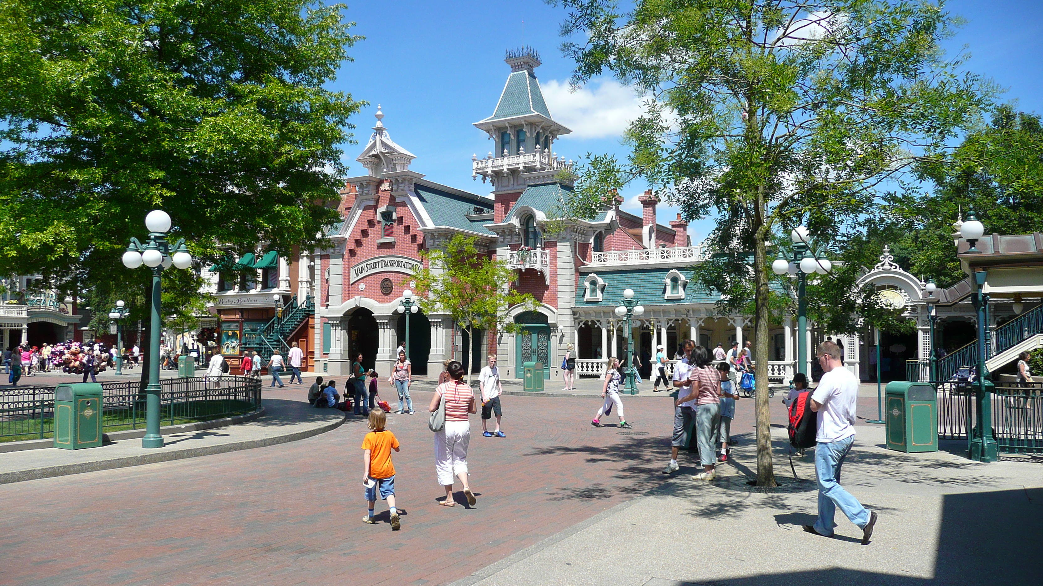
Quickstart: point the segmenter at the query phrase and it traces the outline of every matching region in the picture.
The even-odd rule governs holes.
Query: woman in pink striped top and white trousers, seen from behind
[[[445,499],[440,505],[453,507],[454,477],[463,484],[463,494],[467,504],[475,506],[475,493],[467,483],[467,444],[470,443],[470,419],[468,414],[478,413],[475,393],[463,382],[463,365],[458,361],[448,364],[450,380],[438,385],[428,411],[434,413],[439,404],[445,401],[445,426],[435,432],[435,472],[438,484],[445,488]]]

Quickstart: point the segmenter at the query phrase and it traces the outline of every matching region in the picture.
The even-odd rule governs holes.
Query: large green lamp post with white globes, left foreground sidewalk
[[[170,215],[163,210],[149,212],[145,216],[145,227],[148,228],[148,240],[142,244],[137,238],[131,238],[126,252],[123,253],[123,265],[128,269],[136,269],[144,264],[152,271],[148,385],[145,386],[145,437],[141,439],[141,446],[163,447],[163,436],[160,435],[160,328],[162,327],[160,316],[163,300],[163,269],[169,269],[171,266],[187,269],[192,266],[192,255],[185,246],[185,239],[178,240],[173,246],[167,242]]]

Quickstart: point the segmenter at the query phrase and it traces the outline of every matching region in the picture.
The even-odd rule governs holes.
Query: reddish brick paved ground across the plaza
[[[478,507],[460,493],[457,507],[440,507],[421,414],[431,394],[415,395],[418,413],[389,425],[403,444],[401,532],[386,507],[383,523],[360,521],[366,430],[353,420],[290,444],[0,486],[0,583],[444,584],[664,481],[664,394],[624,398],[626,435],[589,425],[599,398],[507,397],[506,439],[481,437],[472,417]],[[733,433],[752,431],[752,407],[739,402]]]

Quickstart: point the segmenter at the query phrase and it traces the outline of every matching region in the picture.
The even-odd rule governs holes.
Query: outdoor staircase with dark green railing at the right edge
[[[1039,347],[1043,347],[1043,306],[1008,321],[986,338],[986,370],[996,370],[1017,360],[1019,353]],[[977,340],[946,355],[938,361],[938,380],[948,381],[961,366],[976,365],[977,357]]]

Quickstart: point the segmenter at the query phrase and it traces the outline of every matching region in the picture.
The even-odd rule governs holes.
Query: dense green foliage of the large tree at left
[[[203,262],[219,245],[313,244],[362,104],[323,88],[360,39],[343,8],[4,2],[0,273],[140,286],[119,257],[157,207]]]

